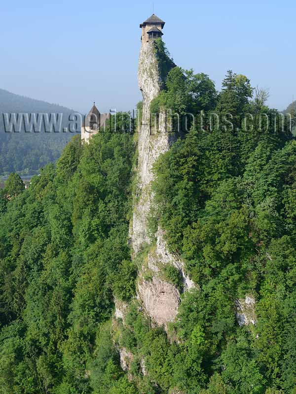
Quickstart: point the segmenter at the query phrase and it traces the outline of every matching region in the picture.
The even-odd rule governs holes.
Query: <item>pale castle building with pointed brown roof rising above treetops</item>
[[[81,127],[81,139],[89,143],[90,138],[100,130],[104,130],[107,119],[110,119],[110,113],[101,114],[95,103],[89,113],[84,118]]]

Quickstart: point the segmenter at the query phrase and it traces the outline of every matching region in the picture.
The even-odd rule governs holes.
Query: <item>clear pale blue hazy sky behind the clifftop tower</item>
[[[151,1],[1,1],[0,88],[87,112],[132,109],[139,24]],[[154,0],[175,63],[208,74],[227,69],[269,88],[269,105],[296,98],[296,1]]]

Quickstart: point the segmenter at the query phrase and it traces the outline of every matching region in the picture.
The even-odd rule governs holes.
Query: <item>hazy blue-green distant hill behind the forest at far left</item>
[[[73,132],[63,132],[63,128],[69,126],[69,115],[74,112],[58,104],[30,99],[0,89],[0,175],[13,171],[34,173],[45,164],[56,161],[64,146],[74,136]],[[34,132],[33,128],[32,132],[28,132],[28,124],[26,132],[24,121],[21,122],[20,132],[13,132],[13,129],[12,132],[7,132],[7,127],[5,132],[3,113],[9,114],[6,118],[9,121],[12,119],[11,113],[28,113],[28,120],[32,113],[36,113],[36,116],[38,113],[45,113],[48,114],[49,121],[51,113],[63,114],[61,132],[53,132],[53,129],[48,132],[50,128],[44,124],[43,119],[40,122],[40,132]]]

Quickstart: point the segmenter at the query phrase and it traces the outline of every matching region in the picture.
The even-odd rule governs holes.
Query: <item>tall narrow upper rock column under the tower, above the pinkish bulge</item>
[[[153,179],[152,165],[159,155],[167,151],[174,140],[172,133],[166,131],[165,114],[160,113],[158,128],[152,127],[150,103],[158,96],[163,81],[161,80],[158,59],[154,45],[149,41],[140,52],[138,83],[143,95],[143,116],[139,129],[138,160],[138,196],[134,206],[131,241],[137,253],[144,243],[149,243],[147,216],[151,204],[150,182]],[[157,129],[157,130],[156,130]]]

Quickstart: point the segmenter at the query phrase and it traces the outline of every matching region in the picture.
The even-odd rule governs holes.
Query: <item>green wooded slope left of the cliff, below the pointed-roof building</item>
[[[0,208],[1,393],[90,392],[99,383],[90,382],[88,369],[100,368],[100,357],[122,375],[108,340],[92,357],[111,318],[112,292],[128,297],[134,289],[127,245],[133,154],[128,133],[97,135],[89,146],[76,136],[28,190],[15,175],[7,180]]]

